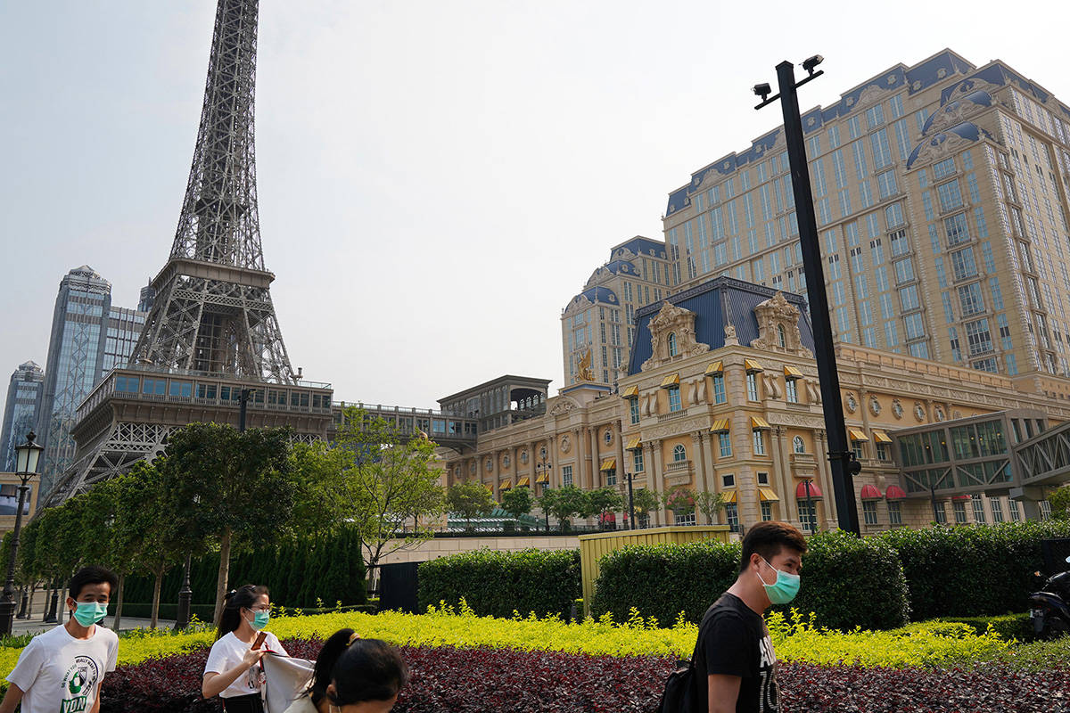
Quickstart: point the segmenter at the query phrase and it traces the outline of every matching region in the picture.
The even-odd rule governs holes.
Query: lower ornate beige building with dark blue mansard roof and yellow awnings
[[[500,497],[510,487],[538,495],[568,484],[626,493],[630,475],[636,489],[658,494],[722,493],[718,518],[733,527],[769,518],[836,527],[813,336],[801,306],[797,295],[717,278],[640,309],[618,393],[562,389],[545,416],[480,433],[475,452],[447,461],[448,480],[474,478]],[[1019,390],[1006,376],[887,351],[843,344],[838,366],[849,437],[862,463],[855,495],[863,532],[934,518],[1036,516],[1035,502],[1019,505],[1023,483],[1010,449],[1026,430],[1070,420],[1068,404]],[[947,458],[922,445],[919,463],[936,465],[914,467],[910,451],[904,467],[901,432],[936,434],[924,443],[943,446]],[[949,437],[959,439],[951,450],[961,463],[950,463]],[[919,438],[905,443],[914,448]],[[984,467],[999,459],[1006,467]],[[928,480],[937,466],[950,475]],[[956,475],[970,468],[978,475],[969,482]],[[666,509],[652,520],[704,522],[701,513]]]

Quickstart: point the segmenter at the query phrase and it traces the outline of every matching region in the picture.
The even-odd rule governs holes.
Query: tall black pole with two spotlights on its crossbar
[[[817,242],[817,221],[813,212],[813,190],[810,187],[810,168],[807,164],[806,144],[802,140],[802,118],[795,90],[824,72],[814,72],[824,58],[814,55],[802,62],[807,71],[798,83],[795,82],[795,65],[784,61],[777,65],[777,82],[780,93],[769,96],[768,84],[756,84],[751,91],[762,97],[755,109],[780,99],[784,115],[784,140],[788,143],[788,161],[791,165],[792,190],[795,195],[795,211],[798,218],[799,245],[802,249],[802,266],[806,270],[810,322],[813,327],[814,360],[817,362],[817,381],[821,385],[822,408],[825,412],[825,431],[828,433],[828,461],[832,475],[832,492],[840,529],[860,534],[858,526],[858,505],[855,501],[854,476],[861,470],[847,448],[847,430],[843,423],[843,402],[840,400],[840,376],[836,371],[836,350],[832,345],[832,325],[829,321],[828,297],[825,294],[825,272],[821,263],[821,245]],[[809,486],[807,489],[809,493]]]

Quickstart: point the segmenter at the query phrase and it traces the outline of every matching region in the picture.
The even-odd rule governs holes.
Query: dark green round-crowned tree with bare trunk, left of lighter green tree
[[[214,620],[219,620],[232,553],[279,540],[294,484],[290,432],[190,423],[171,434],[159,465],[172,517],[201,542],[218,543]]]

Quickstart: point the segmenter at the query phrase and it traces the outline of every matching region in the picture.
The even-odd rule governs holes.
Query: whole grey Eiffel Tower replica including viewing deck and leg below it
[[[204,106],[174,244],[131,363],[78,407],[57,505],[163,452],[196,421],[289,425],[325,438],[330,384],[294,373],[264,268],[254,151],[258,0],[218,0]]]

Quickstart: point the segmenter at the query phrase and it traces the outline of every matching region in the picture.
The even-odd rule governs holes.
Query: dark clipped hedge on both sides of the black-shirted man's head
[[[893,629],[907,622],[906,583],[890,546],[842,532],[823,532],[808,543],[799,595],[778,608],[813,611],[821,625],[831,629]],[[602,558],[592,613],[609,611],[622,621],[636,607],[666,625],[681,611],[698,622],[735,582],[738,567],[738,544],[625,547]]]

